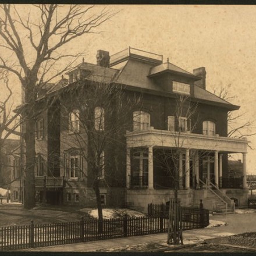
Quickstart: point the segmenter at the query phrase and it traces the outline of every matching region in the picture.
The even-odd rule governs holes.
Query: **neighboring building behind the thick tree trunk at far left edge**
[[[6,139],[1,149],[0,187],[10,190],[10,200],[20,200],[20,140]]]

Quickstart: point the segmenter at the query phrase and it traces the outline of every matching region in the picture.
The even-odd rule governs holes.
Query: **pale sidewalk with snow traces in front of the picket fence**
[[[226,222],[226,226],[211,227],[205,229],[186,230],[183,232],[184,245],[201,243],[205,239],[221,236],[231,236],[244,232],[255,232],[256,212],[249,214],[232,214],[211,216],[211,220]],[[166,244],[167,233],[150,234],[147,236],[134,236],[119,239],[99,240],[86,243],[65,244],[31,248],[20,251],[72,251],[72,252],[114,252],[114,251],[164,251],[172,248]]]

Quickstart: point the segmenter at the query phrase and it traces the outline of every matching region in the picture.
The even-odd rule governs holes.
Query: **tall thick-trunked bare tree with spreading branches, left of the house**
[[[63,54],[63,47],[76,38],[95,33],[115,13],[101,6],[30,5],[25,15],[15,5],[0,7],[0,69],[8,70],[20,80],[24,91],[23,119],[26,122],[26,176],[24,207],[34,207],[34,103],[38,88],[63,73],[66,58],[80,53]],[[23,9],[24,10],[24,9]],[[31,15],[33,13],[33,15]],[[62,51],[62,52],[61,52]],[[11,61],[15,63],[12,65]],[[56,67],[62,67],[59,70]],[[56,71],[54,72],[54,67]],[[36,84],[40,84],[39,87]]]

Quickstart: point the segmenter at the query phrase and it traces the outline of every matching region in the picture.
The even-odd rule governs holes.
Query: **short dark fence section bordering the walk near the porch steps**
[[[202,208],[181,207],[182,229],[201,229],[209,225],[209,210]],[[148,204],[148,216],[164,216],[168,218],[169,205]]]

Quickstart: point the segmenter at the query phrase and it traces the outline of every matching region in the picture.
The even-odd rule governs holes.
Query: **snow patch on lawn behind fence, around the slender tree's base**
[[[88,214],[93,218],[98,218],[97,209],[92,209],[91,211],[88,211]],[[145,214],[142,214],[141,212],[137,212],[131,209],[122,209],[122,208],[116,208],[116,209],[105,208],[105,209],[102,209],[102,214],[104,219],[123,218],[126,214],[129,217],[145,216]]]

